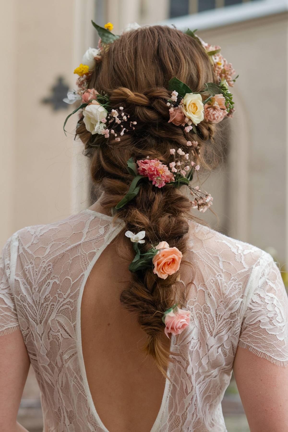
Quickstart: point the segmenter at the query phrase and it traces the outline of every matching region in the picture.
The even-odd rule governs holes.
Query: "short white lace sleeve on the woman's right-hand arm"
[[[288,297],[281,273],[271,255],[254,266],[238,345],[276,365],[288,365]]]

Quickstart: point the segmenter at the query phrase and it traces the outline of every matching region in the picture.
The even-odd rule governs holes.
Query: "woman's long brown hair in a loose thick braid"
[[[193,92],[202,90],[204,83],[217,82],[208,55],[195,39],[177,29],[159,25],[121,35],[104,52],[101,63],[92,73],[89,88],[107,93],[112,108],[123,106],[130,119],[137,121],[135,130],[124,134],[120,142],[116,142],[113,135],[108,139],[92,135],[86,130],[83,117],[76,130],[76,135],[85,144],[85,155],[90,157],[92,180],[104,191],[101,205],[109,213],[127,193],[133,179],[126,169],[130,157],[136,161],[149,156],[168,165],[172,161],[170,149],[190,152],[187,141],[196,140],[202,144],[203,152],[204,141],[213,137],[213,125],[206,121],[198,125],[198,135],[168,123],[166,103],[171,96],[167,90],[168,81],[174,76]],[[202,166],[205,163],[203,156]],[[136,198],[117,215],[125,221],[125,231],[146,231],[143,251],[151,244],[167,241],[184,254],[187,250],[187,218],[192,218],[190,209],[189,198],[176,188],[159,189],[152,182],[145,182]],[[132,261],[135,253],[124,235],[123,247],[129,249]],[[165,376],[171,359],[159,337],[164,333],[161,318],[175,302],[179,302],[180,307],[185,306],[185,293],[177,284],[178,273],[163,280],[151,268],[138,270],[131,273],[130,287],[120,295],[123,305],[137,313],[139,324],[148,335],[144,351],[153,356]]]

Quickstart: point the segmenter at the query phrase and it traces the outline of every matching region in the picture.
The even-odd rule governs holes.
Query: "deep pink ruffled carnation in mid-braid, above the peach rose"
[[[156,187],[163,187],[166,183],[174,181],[174,175],[169,171],[168,166],[158,159],[139,160],[137,164],[139,174],[148,177]]]

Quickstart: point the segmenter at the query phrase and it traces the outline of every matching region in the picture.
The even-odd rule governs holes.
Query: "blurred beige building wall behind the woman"
[[[0,247],[24,226],[60,220],[91,204],[82,145],[73,140],[77,116],[68,121],[65,137],[63,121],[72,107],[62,102],[85,50],[97,45],[91,19],[99,25],[111,21],[118,34],[130,22],[162,23],[198,29],[204,41],[222,47],[239,73],[225,160],[204,187],[214,197],[217,229],[268,248],[285,269],[287,0],[0,1]],[[215,217],[204,216],[214,227]],[[20,416],[27,407],[37,411],[37,391],[31,378]],[[40,430],[33,416],[29,430]]]

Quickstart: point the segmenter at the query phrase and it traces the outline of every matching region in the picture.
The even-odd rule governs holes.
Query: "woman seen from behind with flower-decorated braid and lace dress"
[[[0,429],[23,430],[31,362],[45,432],[226,431],[232,368],[250,430],[284,431],[279,269],[191,211],[212,202],[194,181],[232,116],[234,70],[190,31],[95,27],[99,48],[85,53],[67,101],[82,98],[76,135],[101,197],[6,241]]]

